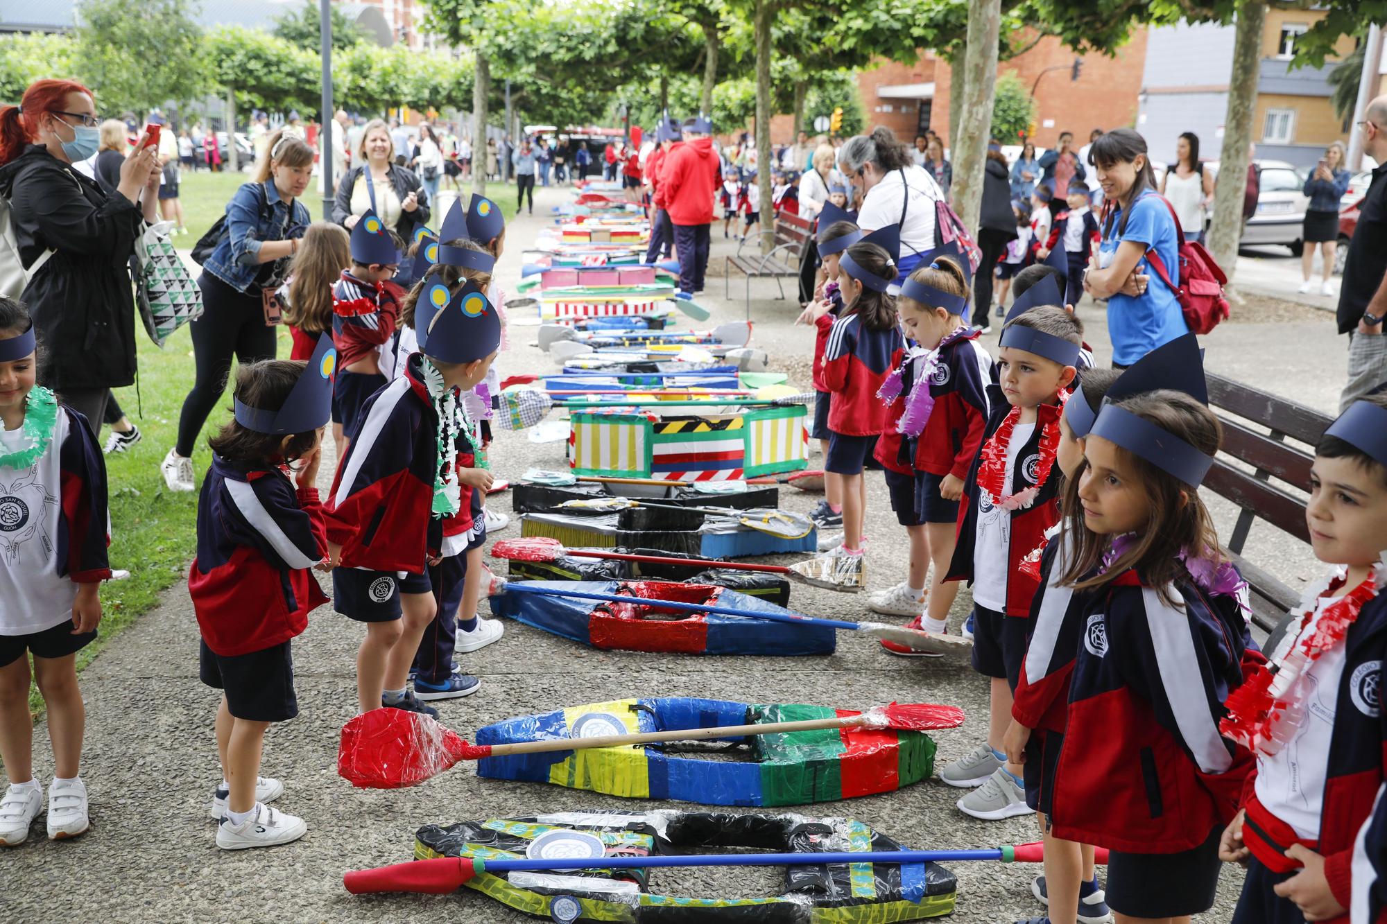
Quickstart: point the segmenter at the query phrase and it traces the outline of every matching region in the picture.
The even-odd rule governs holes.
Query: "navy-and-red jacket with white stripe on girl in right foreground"
[[[1128,853],[1179,853],[1237,812],[1252,755],[1219,735],[1223,701],[1257,658],[1241,605],[1125,572],[1083,591],[1054,837]],[[1033,644],[1033,638],[1032,638]]]

